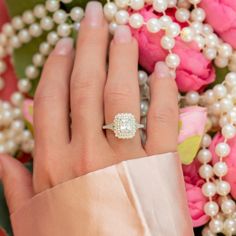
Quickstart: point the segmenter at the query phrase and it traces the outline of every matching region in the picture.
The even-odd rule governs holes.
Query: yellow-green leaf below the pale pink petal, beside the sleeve
[[[183,164],[189,165],[194,160],[199,150],[201,140],[201,135],[195,135],[187,138],[178,145],[178,153]]]

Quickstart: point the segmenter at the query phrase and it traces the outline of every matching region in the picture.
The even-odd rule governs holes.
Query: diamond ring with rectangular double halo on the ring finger
[[[144,125],[138,124],[131,113],[118,113],[113,123],[104,125],[103,129],[110,129],[119,139],[132,139],[137,129],[144,128]]]

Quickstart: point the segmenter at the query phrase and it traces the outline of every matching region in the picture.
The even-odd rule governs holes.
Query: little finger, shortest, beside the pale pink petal
[[[164,62],[151,75],[151,103],[147,116],[146,151],[149,155],[172,152],[178,139],[178,90]]]

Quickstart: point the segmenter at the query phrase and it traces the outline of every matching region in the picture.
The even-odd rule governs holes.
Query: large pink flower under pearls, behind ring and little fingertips
[[[173,18],[173,11],[167,13]],[[140,14],[146,21],[152,17],[159,17],[150,6],[143,8]],[[160,45],[163,31],[153,34],[149,33],[146,27],[142,27],[138,30],[133,29],[132,32],[139,43],[139,63],[148,72],[152,72],[155,63],[165,60],[167,55],[167,51]],[[211,62],[204,57],[195,43],[187,44],[177,38],[173,52],[181,59],[176,73],[176,82],[180,91],[201,90],[215,80],[215,71]]]

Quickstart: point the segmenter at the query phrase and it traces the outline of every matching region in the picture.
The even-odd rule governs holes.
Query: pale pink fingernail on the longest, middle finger
[[[89,2],[85,10],[85,21],[90,26],[101,26],[103,24],[103,8],[100,2]]]

